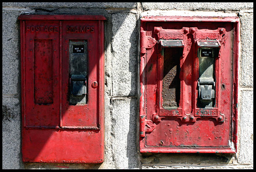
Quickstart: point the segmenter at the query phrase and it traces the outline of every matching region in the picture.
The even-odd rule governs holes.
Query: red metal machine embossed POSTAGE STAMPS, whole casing
[[[25,162],[104,161],[103,16],[21,15]]]

